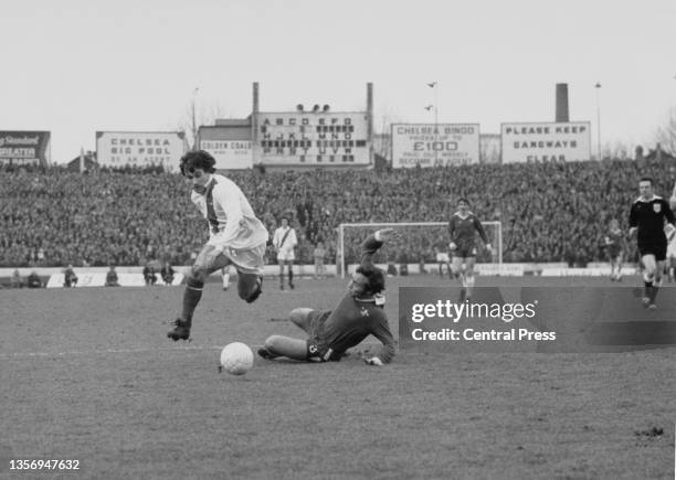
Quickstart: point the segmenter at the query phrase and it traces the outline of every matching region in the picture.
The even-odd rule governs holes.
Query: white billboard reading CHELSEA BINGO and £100
[[[395,169],[478,162],[478,124],[392,125],[392,167]]]

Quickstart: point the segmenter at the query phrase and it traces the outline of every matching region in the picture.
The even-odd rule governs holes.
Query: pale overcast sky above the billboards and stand
[[[676,107],[676,0],[36,0],[3,2],[0,130],[51,130],[52,158],[96,130],[176,130],[198,117],[329,104],[383,124],[570,119],[602,143],[653,146]],[[215,107],[214,107],[215,106]],[[595,147],[593,148],[595,151]]]

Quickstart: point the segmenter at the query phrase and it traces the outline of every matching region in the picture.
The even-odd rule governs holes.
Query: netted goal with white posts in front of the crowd
[[[503,226],[500,222],[482,222],[490,254],[477,235],[477,271],[484,275],[499,275],[503,266]],[[342,278],[355,271],[361,256],[361,243],[381,228],[394,228],[401,234],[401,242],[385,243],[376,255],[374,263],[383,269],[389,264],[397,268],[408,265],[409,274],[420,274],[421,269],[432,274],[439,271],[436,254],[450,255],[448,222],[413,223],[342,223],[338,226],[337,275]],[[423,271],[424,273],[424,271]]]

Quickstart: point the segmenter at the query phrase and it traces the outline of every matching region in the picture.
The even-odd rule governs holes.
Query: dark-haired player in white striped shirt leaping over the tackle
[[[262,291],[267,231],[242,190],[232,180],[216,174],[214,166],[213,157],[202,150],[181,158],[181,173],[192,183],[190,200],[209,222],[209,241],[188,276],[181,316],[167,333],[173,341],[190,338],[192,313],[202,298],[204,280],[213,271],[233,265],[237,270],[237,292],[249,303]]]

